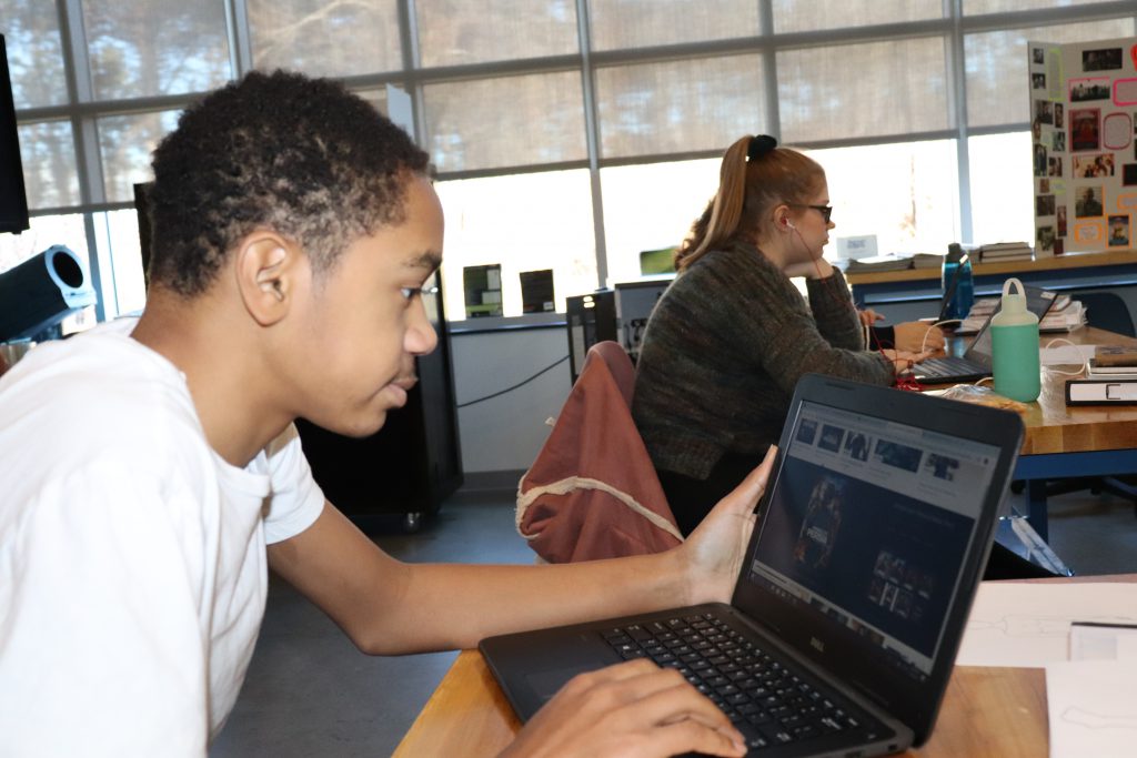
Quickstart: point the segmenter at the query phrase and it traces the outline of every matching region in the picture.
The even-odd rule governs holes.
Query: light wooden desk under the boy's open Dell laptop
[[[1043,582],[1137,582],[1137,574]],[[410,726],[393,758],[496,756],[521,723],[476,650],[465,650]],[[956,668],[931,739],[907,756],[1045,756],[1046,678],[1040,668]]]

